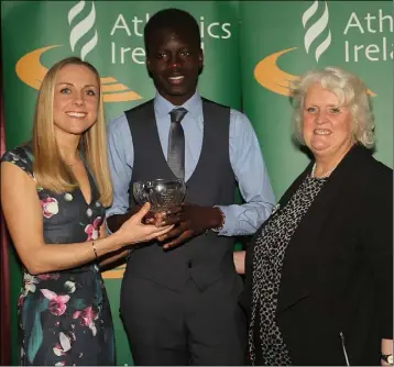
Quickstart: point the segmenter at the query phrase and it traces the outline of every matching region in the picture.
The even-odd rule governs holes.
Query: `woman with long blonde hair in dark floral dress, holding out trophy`
[[[33,136],[1,163],[1,203],[24,267],[21,365],[113,365],[110,307],[98,264],[172,226],[144,225],[145,204],[105,237],[112,201],[100,78],[69,57],[46,74]]]

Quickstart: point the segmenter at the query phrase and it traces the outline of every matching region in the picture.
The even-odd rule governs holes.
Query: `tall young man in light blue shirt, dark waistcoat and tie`
[[[133,212],[134,181],[180,177],[187,193],[182,212],[165,219],[176,226],[128,259],[121,316],[134,363],[243,365],[247,333],[233,236],[253,234],[274,203],[259,142],[244,114],[196,91],[204,55],[189,13],[157,12],[144,42],[157,92],[109,124],[114,200],[108,226],[117,231]],[[179,108],[176,118],[172,111]],[[180,169],[174,166],[178,143]],[[234,204],[236,180],[242,205]]]

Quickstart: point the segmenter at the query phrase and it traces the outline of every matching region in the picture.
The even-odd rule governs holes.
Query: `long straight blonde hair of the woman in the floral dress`
[[[53,119],[54,90],[57,73],[66,65],[81,65],[96,75],[100,87],[100,99],[96,123],[81,136],[79,149],[86,159],[105,207],[112,202],[112,186],[108,168],[106,121],[103,116],[100,76],[89,63],[78,57],[68,57],[56,63],[45,75],[35,104],[32,149],[33,173],[37,186],[61,193],[78,187],[75,177],[61,157],[55,137]]]

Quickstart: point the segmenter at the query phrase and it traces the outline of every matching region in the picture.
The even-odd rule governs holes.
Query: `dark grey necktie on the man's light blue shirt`
[[[187,113],[184,108],[174,109],[171,114],[167,164],[177,178],[185,179],[185,135],[180,125]]]

